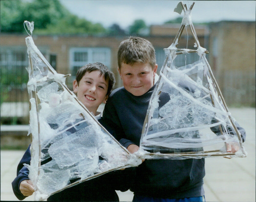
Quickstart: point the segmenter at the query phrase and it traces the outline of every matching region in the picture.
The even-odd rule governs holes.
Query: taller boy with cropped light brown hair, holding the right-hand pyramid
[[[130,37],[121,42],[118,71],[124,87],[110,94],[103,119],[114,129],[113,136],[131,153],[139,149],[156,70],[155,49],[149,41]],[[238,130],[245,138],[244,129]],[[146,159],[136,167],[134,175],[130,187],[133,201],[204,201],[204,158]]]

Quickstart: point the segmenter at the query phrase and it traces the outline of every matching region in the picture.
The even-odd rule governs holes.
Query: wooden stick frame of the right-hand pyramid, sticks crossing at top
[[[183,9],[184,12],[187,12],[187,11],[188,11],[186,4],[183,4],[182,2],[180,2],[179,4],[181,4],[182,9]],[[193,4],[190,6],[189,10],[192,10],[194,4],[195,4],[195,2],[193,2]],[[178,31],[178,33],[176,34],[176,36],[175,36],[175,38],[174,38],[174,40],[173,40],[173,43],[172,43],[172,44],[174,44],[176,48],[177,48],[177,46],[178,46],[178,44],[179,44],[180,37],[181,37],[181,34],[182,34],[184,28],[185,28],[185,25],[184,25],[184,24],[181,24],[181,26],[180,26],[180,28],[179,28],[179,31]],[[189,28],[190,28],[190,31],[191,31],[191,33],[192,33],[192,36],[193,36],[193,38],[194,38],[194,40],[195,40],[195,42],[196,42],[196,46],[197,46],[197,47],[201,47],[201,46],[200,46],[200,43],[199,43],[199,40],[198,40],[198,38],[197,38],[197,35],[196,35],[196,31],[195,31],[194,25],[193,25],[192,22],[189,23]],[[180,52],[178,52],[178,51],[180,51]],[[185,51],[186,53],[198,53],[197,50],[192,50],[192,49],[176,49],[175,55],[184,54],[183,51]],[[208,52],[208,50],[205,49],[204,53],[208,54],[209,52]],[[168,56],[166,57],[166,59],[165,59],[165,61],[164,61],[163,67],[165,67],[165,65],[167,64],[167,62],[168,62],[168,60],[169,60],[169,56],[170,56],[170,55],[168,55]],[[229,115],[228,115],[228,118],[229,118],[229,120],[230,120],[230,122],[231,122],[231,124],[232,124],[232,126],[233,126],[233,128],[234,128],[234,130],[236,131],[237,138],[238,138],[238,140],[239,140],[240,149],[241,149],[241,151],[242,151],[242,153],[243,153],[243,157],[245,157],[245,156],[246,156],[246,152],[245,152],[245,150],[244,150],[244,146],[243,146],[243,143],[242,143],[243,141],[242,141],[241,134],[240,134],[240,132],[238,131],[238,129],[237,129],[237,127],[236,127],[236,125],[235,125],[235,123],[234,123],[232,117],[230,116],[230,113],[229,113],[229,111],[228,111],[228,107],[227,107],[226,102],[225,102],[225,100],[224,100],[224,98],[223,98],[223,95],[222,95],[222,93],[221,93],[221,91],[220,91],[220,87],[218,86],[217,81],[216,81],[215,77],[213,76],[212,69],[211,69],[211,67],[210,67],[210,65],[209,65],[209,63],[208,63],[208,61],[207,61],[207,59],[206,59],[206,57],[205,57],[205,54],[202,54],[202,58],[203,58],[203,61],[205,62],[206,66],[207,66],[207,68],[208,68],[208,71],[209,71],[210,76],[211,76],[211,78],[212,78],[213,85],[214,85],[214,87],[215,87],[215,89],[216,89],[216,91],[217,91],[217,94],[220,96],[220,100],[222,101],[223,106],[224,106],[226,112],[229,114]],[[163,69],[164,69],[164,68],[163,68]],[[162,73],[163,73],[163,69],[162,69]],[[158,79],[158,80],[160,80],[160,78],[161,78],[161,74],[159,75],[159,79]],[[207,79],[207,78],[206,78],[206,79]],[[208,81],[208,80],[207,80],[207,81]],[[159,83],[156,83],[156,85],[157,85],[156,87],[158,87]],[[160,86],[160,87],[161,87],[161,86]],[[160,94],[160,93],[161,93],[161,91],[159,92],[159,94]],[[159,95],[159,94],[158,94],[158,95]],[[156,91],[154,91],[154,93],[152,94],[152,97],[158,96],[158,95],[156,95]],[[212,95],[211,95],[211,100],[212,100],[212,104],[214,105],[214,101],[213,101]],[[149,117],[148,117],[148,114],[147,114],[147,115],[146,115],[146,118],[145,118],[145,121],[144,121],[143,129],[142,129],[142,134],[144,134],[144,132],[145,132],[145,127],[146,127],[146,124],[147,124],[148,122],[149,122]],[[223,133],[221,127],[220,127],[220,132]],[[210,153],[210,154],[209,154],[209,153]],[[150,158],[150,157],[153,157],[153,158],[154,158],[154,157],[156,157],[156,158],[168,158],[168,157],[177,157],[177,156],[188,157],[188,158],[191,158],[191,157],[192,157],[192,158],[193,158],[193,157],[199,157],[199,156],[202,156],[202,157],[207,157],[207,156],[223,156],[223,157],[225,157],[225,156],[232,156],[232,155],[235,155],[235,153],[228,153],[228,152],[223,153],[223,151],[221,151],[221,150],[213,150],[213,151],[203,151],[203,153],[199,153],[199,152],[183,152],[183,153],[147,153],[147,154],[145,154],[145,155],[146,155],[146,156],[144,156],[144,158],[145,158],[145,157],[147,158],[147,156],[148,156],[149,158]],[[142,157],[141,157],[141,158],[142,158]]]

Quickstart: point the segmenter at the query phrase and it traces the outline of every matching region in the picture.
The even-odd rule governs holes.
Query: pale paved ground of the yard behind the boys
[[[246,158],[206,158],[204,189],[206,201],[255,201],[255,108],[230,108],[232,116],[245,128]],[[1,201],[18,200],[11,182],[24,151],[1,150]],[[118,192],[120,201],[132,201],[132,192]],[[25,199],[33,201],[33,196]]]

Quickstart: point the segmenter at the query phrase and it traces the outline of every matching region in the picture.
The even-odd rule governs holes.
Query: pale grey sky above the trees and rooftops
[[[113,23],[122,28],[143,19],[147,25],[162,24],[183,17],[173,12],[180,1],[170,0],[60,0],[72,13],[93,23],[108,27]],[[193,1],[183,1],[192,4]],[[256,1],[195,1],[192,22],[220,20],[255,21]]]

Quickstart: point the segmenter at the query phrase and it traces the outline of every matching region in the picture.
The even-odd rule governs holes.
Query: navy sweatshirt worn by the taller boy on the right
[[[121,87],[115,89],[108,98],[103,119],[114,131],[113,136],[126,148],[130,144],[140,145],[141,131],[154,87],[141,96],[134,96]],[[241,127],[238,130],[245,138],[245,131]],[[204,195],[204,176],[204,158],[146,159],[136,167],[130,190],[134,194],[156,198],[198,197]]]

